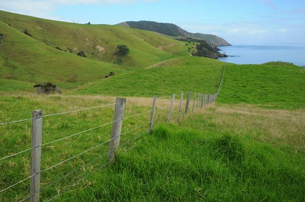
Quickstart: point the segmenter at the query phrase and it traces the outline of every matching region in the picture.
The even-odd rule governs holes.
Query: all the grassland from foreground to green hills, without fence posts
[[[1,202],[29,194],[29,179],[2,190],[30,175],[30,151],[4,157],[31,148],[32,127],[1,123],[36,109],[52,115],[43,117],[42,201],[305,201],[305,69],[191,57],[184,42],[143,30],[0,14]],[[121,43],[131,50],[117,65]],[[214,94],[223,68],[217,102],[186,116],[184,101],[177,121],[181,91],[184,100],[187,91]],[[104,79],[110,71],[116,75]],[[59,84],[64,94],[36,95],[37,82]],[[155,94],[167,97],[157,99],[148,134]],[[115,96],[127,103],[109,163]],[[60,114],[84,108],[92,109]]]

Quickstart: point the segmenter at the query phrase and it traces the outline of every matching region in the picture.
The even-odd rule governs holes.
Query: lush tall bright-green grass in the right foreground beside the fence
[[[304,158],[267,143],[174,125],[157,127],[58,198],[89,201],[301,201]],[[286,159],[293,157],[289,162]],[[292,162],[291,162],[292,161]],[[298,162],[297,162],[298,161]],[[88,184],[94,183],[92,185]]]

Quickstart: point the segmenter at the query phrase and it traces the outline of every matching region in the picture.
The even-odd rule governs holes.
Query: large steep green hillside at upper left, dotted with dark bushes
[[[54,82],[64,88],[104,78],[109,72],[145,68],[189,55],[183,42],[158,33],[112,25],[58,22],[0,11],[0,78]],[[23,33],[24,30],[32,36]],[[130,52],[114,64],[116,46]],[[58,47],[58,50],[55,49]],[[77,56],[84,51],[86,58]]]

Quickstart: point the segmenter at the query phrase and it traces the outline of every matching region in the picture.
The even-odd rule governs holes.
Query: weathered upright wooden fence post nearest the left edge
[[[31,149],[31,178],[29,185],[29,201],[39,202],[40,163],[42,140],[42,111],[34,110],[32,114],[32,149]]]

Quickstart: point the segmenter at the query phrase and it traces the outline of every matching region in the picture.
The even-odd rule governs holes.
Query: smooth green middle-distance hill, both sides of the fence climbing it
[[[180,91],[215,93],[223,62],[179,57],[83,86],[75,94],[169,95]],[[227,63],[218,102],[260,104],[271,108],[305,107],[305,69],[289,63]]]

